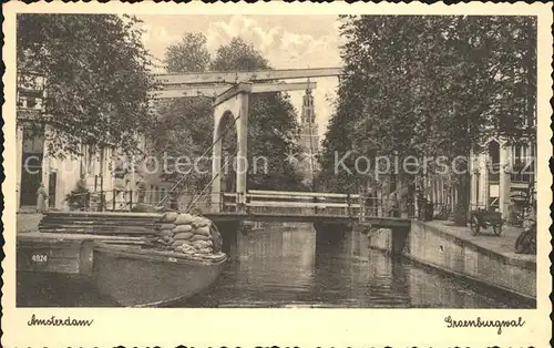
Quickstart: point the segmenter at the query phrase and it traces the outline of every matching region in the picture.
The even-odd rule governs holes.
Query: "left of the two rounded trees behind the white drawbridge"
[[[171,73],[204,72],[208,69],[209,52],[202,33],[187,33],[178,43],[170,45],[165,64]],[[195,162],[212,145],[213,106],[209,98],[179,98],[155,102],[156,121],[148,133],[152,152],[161,160],[167,160],[162,178],[176,182],[186,175],[183,190],[198,191],[209,182],[211,165]],[[211,156],[212,152],[207,152]],[[189,174],[186,174],[191,172]]]

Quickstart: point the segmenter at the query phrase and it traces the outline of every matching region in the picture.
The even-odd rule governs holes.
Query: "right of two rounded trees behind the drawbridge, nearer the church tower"
[[[271,69],[268,61],[242,38],[234,38],[222,45],[212,61],[216,71],[254,71]],[[301,176],[294,163],[287,162],[289,153],[298,153],[296,111],[287,95],[283,93],[253,94],[248,111],[248,175],[249,188],[300,190]],[[233,153],[236,137],[228,141]],[[265,160],[264,160],[265,158]],[[265,167],[267,161],[267,171]],[[254,170],[256,170],[254,172]],[[230,185],[235,173],[227,175]]]

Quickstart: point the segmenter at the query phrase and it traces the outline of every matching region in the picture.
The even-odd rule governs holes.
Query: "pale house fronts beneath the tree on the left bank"
[[[51,209],[69,209],[65,197],[82,180],[91,193],[90,208],[102,201],[107,208],[127,209],[136,202],[141,177],[124,173],[114,161],[115,150],[100,153],[82,145],[81,156],[64,158],[48,155],[49,129],[44,124],[44,78],[25,71],[18,72],[17,83],[17,199],[18,212],[34,212],[37,190],[42,182],[49,194]],[[103,193],[103,196],[102,196]]]

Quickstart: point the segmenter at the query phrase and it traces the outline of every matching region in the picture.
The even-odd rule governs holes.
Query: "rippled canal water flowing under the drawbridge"
[[[310,225],[239,234],[235,255],[217,282],[172,307],[525,308],[494,290],[369,249],[363,238],[350,233],[339,243],[321,245]],[[33,280],[35,288],[45,284]],[[19,291],[29,286],[18,286],[20,307],[114,306],[91,285],[66,286],[45,297]]]

